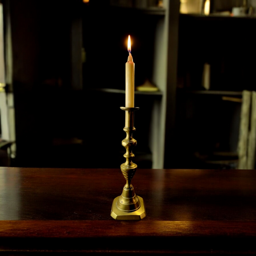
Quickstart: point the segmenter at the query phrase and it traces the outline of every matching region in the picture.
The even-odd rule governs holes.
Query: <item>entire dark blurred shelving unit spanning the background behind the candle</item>
[[[159,89],[135,91],[139,168],[199,168],[196,152],[236,153],[242,92],[255,90],[255,16],[182,14],[180,0],[3,2],[17,165],[119,168],[128,35],[135,86]]]

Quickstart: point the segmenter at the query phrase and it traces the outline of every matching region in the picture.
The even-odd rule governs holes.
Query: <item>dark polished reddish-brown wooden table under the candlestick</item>
[[[256,254],[256,171],[140,170],[147,216],[110,217],[117,169],[0,168],[0,255]]]

